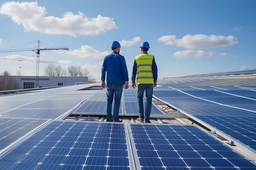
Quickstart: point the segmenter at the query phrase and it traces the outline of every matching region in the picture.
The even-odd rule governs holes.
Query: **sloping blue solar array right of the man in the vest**
[[[161,101],[256,154],[256,86],[250,90],[236,86],[155,89],[153,94]]]

